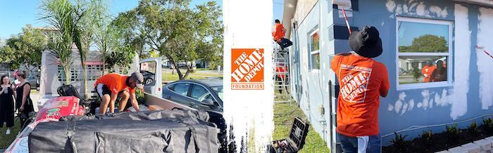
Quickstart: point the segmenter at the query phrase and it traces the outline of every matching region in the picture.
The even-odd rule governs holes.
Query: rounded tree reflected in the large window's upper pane
[[[443,53],[449,51],[444,36],[425,34],[413,39],[411,46],[399,46],[399,52],[432,52]]]

